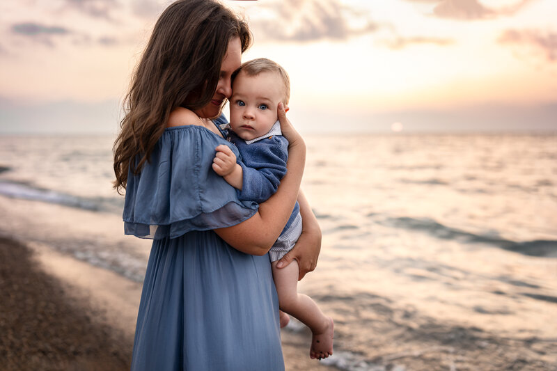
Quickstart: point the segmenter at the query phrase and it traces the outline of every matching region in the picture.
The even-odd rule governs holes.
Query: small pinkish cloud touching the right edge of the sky
[[[557,61],[557,33],[510,29],[503,32],[497,41],[501,44],[533,47],[544,54],[547,61]]]

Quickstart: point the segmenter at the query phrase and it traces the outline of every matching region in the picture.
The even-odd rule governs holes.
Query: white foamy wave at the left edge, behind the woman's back
[[[118,214],[122,212],[124,205],[123,200],[118,198],[86,198],[74,196],[14,180],[0,180],[0,195],[23,200],[54,203],[95,212],[113,212]]]

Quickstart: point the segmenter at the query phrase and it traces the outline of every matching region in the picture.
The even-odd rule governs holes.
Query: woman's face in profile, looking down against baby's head
[[[221,115],[226,99],[232,95],[232,86],[230,84],[232,73],[240,68],[241,64],[242,44],[240,43],[240,38],[233,38],[228,42],[228,49],[226,49],[226,55],[221,65],[219,84],[217,84],[217,90],[214,92],[211,102],[195,111],[199,117],[217,118]]]

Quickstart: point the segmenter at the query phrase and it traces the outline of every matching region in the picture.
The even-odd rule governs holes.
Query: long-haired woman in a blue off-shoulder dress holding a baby
[[[216,124],[249,29],[212,0],[180,0],[159,17],[127,95],[114,145],[125,232],[153,238],[132,370],[283,370],[278,300],[267,251],[298,198],[304,233],[287,255],[315,268],[320,230],[299,194],[305,144],[290,140],[288,174],[256,205],[212,171],[230,145]],[[236,155],[237,150],[230,145]]]

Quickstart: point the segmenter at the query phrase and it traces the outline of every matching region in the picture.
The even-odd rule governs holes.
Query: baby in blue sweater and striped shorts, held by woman
[[[240,200],[262,203],[276,192],[286,174],[288,141],[281,135],[277,107],[279,102],[288,104],[290,79],[273,61],[254,59],[235,72],[232,92],[230,141],[237,146],[242,161],[237,163],[232,150],[219,145],[212,167],[238,190]],[[299,267],[296,260],[287,267],[276,267],[278,260],[296,244],[301,223],[296,203],[284,230],[269,251],[273,278],[281,310],[306,324],[313,333],[310,357],[327,358],[333,354],[333,319],[326,317],[310,297],[297,292]],[[281,322],[288,322],[288,317],[284,317]]]

